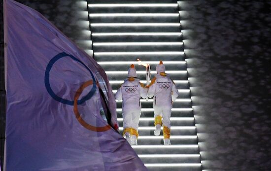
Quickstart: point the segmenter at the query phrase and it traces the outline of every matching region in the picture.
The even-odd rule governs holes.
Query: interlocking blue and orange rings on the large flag
[[[53,65],[61,58],[63,57],[69,57],[71,58],[72,60],[82,64],[89,72],[90,72],[90,75],[92,77],[92,80],[88,80],[86,82],[84,82],[80,87],[79,89],[76,91],[75,93],[75,96],[74,96],[74,100],[73,101],[70,101],[70,100],[67,100],[67,99],[63,99],[61,97],[58,97],[54,91],[52,90],[51,88],[51,85],[50,85],[50,70],[52,69]],[[78,105],[82,104],[82,103],[85,103],[87,100],[91,99],[92,96],[95,94],[96,90],[97,90],[97,83],[96,83],[96,80],[95,80],[95,77],[92,73],[92,71],[84,64],[82,63],[80,60],[78,60],[77,58],[75,58],[74,56],[72,55],[69,55],[65,52],[62,52],[62,53],[59,53],[58,55],[56,55],[55,57],[53,57],[46,69],[45,69],[45,76],[44,76],[44,83],[45,83],[45,87],[46,87],[46,90],[47,92],[49,93],[49,95],[56,101],[60,102],[60,103],[63,103],[63,104],[68,104],[68,105],[73,105],[73,112],[75,114],[75,117],[76,119],[78,120],[78,122],[83,126],[85,127],[86,129],[88,130],[91,130],[91,131],[95,131],[95,132],[103,132],[103,131],[107,131],[109,129],[111,129],[111,127],[109,125],[106,125],[104,127],[95,127],[95,126],[92,126],[90,124],[88,124],[87,122],[84,121],[84,119],[81,117],[79,111],[78,111]],[[90,86],[90,85],[93,85],[93,87],[91,88],[90,92],[85,96],[83,97],[81,100],[78,100],[79,99],[79,96],[82,94],[83,90]]]

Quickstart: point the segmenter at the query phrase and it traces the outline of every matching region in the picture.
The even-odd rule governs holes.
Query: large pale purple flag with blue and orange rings
[[[104,70],[40,13],[4,0],[5,171],[146,171]]]

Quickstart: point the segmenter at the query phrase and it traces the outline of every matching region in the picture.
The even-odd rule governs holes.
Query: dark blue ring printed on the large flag
[[[69,100],[66,100],[66,99],[62,99],[60,97],[58,97],[52,90],[51,88],[51,85],[50,85],[50,70],[51,68],[53,67],[53,65],[55,64],[55,62],[57,62],[59,59],[63,58],[63,57],[70,57],[71,59],[73,59],[74,61],[77,61],[79,62],[80,64],[82,64],[85,68],[88,69],[88,71],[90,72],[91,74],[91,77],[93,79],[93,87],[92,89],[90,90],[90,92],[85,96],[83,97],[81,100],[78,100],[77,101],[77,104],[82,104],[84,102],[86,102],[87,100],[89,100],[93,95],[94,93],[96,92],[96,89],[97,89],[97,84],[96,84],[96,80],[95,80],[95,77],[92,73],[92,71],[85,65],[83,64],[81,61],[79,61],[77,58],[75,58],[74,56],[72,55],[69,55],[65,52],[62,52],[62,53],[59,53],[58,55],[56,55],[54,58],[52,58],[47,67],[46,67],[46,70],[45,70],[45,76],[44,76],[44,83],[45,83],[45,87],[46,87],[46,90],[47,92],[49,93],[49,95],[56,101],[60,102],[60,103],[64,103],[64,104],[68,104],[68,105],[73,105],[74,101],[69,101]]]

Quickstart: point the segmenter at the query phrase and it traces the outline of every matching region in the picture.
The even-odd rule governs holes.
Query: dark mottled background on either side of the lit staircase
[[[82,0],[17,1],[41,12],[79,46],[83,45],[78,40],[87,40],[78,23],[86,11]],[[203,169],[269,171],[271,1],[178,3]],[[1,138],[5,118],[2,51],[1,44]],[[2,153],[3,139],[1,158]]]

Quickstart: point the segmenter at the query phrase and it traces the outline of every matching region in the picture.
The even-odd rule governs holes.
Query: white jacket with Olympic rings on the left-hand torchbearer
[[[126,79],[118,89],[115,97],[118,101],[122,100],[122,110],[141,109],[140,96],[145,99],[147,92],[144,84],[139,81],[136,78],[134,81]]]

